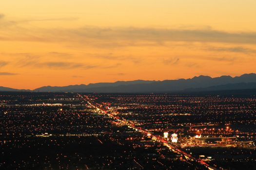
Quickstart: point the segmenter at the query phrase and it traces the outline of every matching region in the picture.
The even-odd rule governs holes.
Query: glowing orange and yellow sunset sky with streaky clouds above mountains
[[[256,72],[256,0],[1,0],[0,86]]]

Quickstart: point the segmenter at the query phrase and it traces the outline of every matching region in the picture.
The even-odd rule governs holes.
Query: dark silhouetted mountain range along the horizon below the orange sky
[[[118,81],[115,83],[96,83],[89,85],[43,86],[34,90],[20,90],[0,86],[0,91],[32,92],[85,92],[85,93],[163,93],[196,92],[236,89],[256,89],[256,74],[241,76],[196,76],[190,79],[164,81]]]

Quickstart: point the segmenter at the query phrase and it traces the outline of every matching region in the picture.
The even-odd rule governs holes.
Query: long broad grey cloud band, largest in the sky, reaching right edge
[[[55,32],[55,31],[53,31]],[[72,30],[58,30],[63,37],[71,41],[105,40],[132,45],[132,42],[148,41],[162,43],[166,41],[187,42],[222,42],[222,43],[256,43],[256,32],[228,33],[211,29],[205,30],[177,30],[158,28],[98,28],[84,27]],[[124,42],[123,42],[124,41]]]

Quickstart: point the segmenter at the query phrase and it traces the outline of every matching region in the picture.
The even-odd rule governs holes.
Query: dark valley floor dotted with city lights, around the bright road
[[[256,169],[255,96],[80,95],[155,136],[177,133],[178,148],[217,169]],[[0,92],[0,170],[206,169],[110,118],[81,96]],[[216,141],[206,147],[186,143],[196,135],[253,143],[227,147],[210,147]]]

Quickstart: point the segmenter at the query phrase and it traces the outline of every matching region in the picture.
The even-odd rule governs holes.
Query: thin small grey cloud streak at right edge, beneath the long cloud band
[[[253,49],[248,49],[244,47],[230,47],[230,48],[225,48],[225,47],[209,47],[207,50],[210,51],[227,51],[227,52],[240,52],[240,53],[255,53],[256,50]]]

